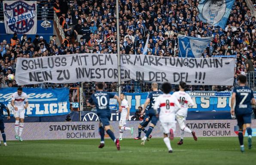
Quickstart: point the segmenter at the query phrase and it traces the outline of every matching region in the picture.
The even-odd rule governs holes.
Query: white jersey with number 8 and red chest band
[[[155,100],[154,109],[160,107],[159,121],[161,123],[175,123],[175,114],[181,108],[178,100],[171,94],[162,94]]]

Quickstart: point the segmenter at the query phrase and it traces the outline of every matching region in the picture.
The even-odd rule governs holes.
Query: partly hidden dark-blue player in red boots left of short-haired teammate
[[[141,106],[140,106],[141,107]],[[142,108],[142,107],[141,107]],[[145,114],[144,114],[145,113]],[[149,124],[149,122],[151,121],[149,118],[149,111],[146,108],[145,112],[143,114],[140,114],[141,116],[143,115],[144,118],[142,121],[140,121],[140,124],[138,126],[138,136],[136,138],[134,138],[135,140],[140,140],[140,136],[141,136],[141,131],[143,131],[145,134],[147,133],[147,130],[145,129],[147,127],[147,125]],[[149,135],[149,138],[151,138],[152,135]]]

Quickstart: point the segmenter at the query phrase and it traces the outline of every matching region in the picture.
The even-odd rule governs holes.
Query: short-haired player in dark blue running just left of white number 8
[[[156,113],[153,109],[154,103],[155,103],[155,99],[160,96],[161,94],[163,94],[162,91],[158,91],[158,84],[156,82],[152,83],[152,92],[149,93],[149,95],[147,96],[146,102],[144,104],[143,110],[142,110],[142,114],[144,113],[146,107],[148,108],[149,111],[149,118],[151,119],[151,123],[149,125],[149,129],[146,132],[146,135],[144,136],[144,138],[141,139],[141,145],[145,145],[145,141],[149,140],[149,135],[151,134],[153,128],[155,127],[157,121],[158,121],[158,117],[156,117]]]

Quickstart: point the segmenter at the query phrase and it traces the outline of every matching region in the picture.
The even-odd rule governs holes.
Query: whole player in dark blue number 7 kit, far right
[[[245,86],[246,76],[239,75],[238,77],[239,86],[233,89],[231,98],[231,115],[236,115],[238,121],[238,139],[240,143],[240,150],[244,152],[244,136],[243,136],[243,125],[245,124],[248,133],[248,148],[252,148],[252,129],[251,129],[251,115],[252,115],[252,104],[256,105],[256,101],[253,96],[253,91]],[[235,110],[234,110],[235,109]]]

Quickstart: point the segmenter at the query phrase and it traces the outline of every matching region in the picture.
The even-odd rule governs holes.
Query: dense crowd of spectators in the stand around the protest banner
[[[119,0],[120,24],[116,27],[115,0],[55,0],[53,9],[59,17],[65,39],[57,44],[56,35],[49,43],[43,36],[21,38],[14,34],[11,41],[0,43],[0,87],[17,86],[7,80],[15,73],[18,57],[58,56],[72,53],[117,53],[117,28],[120,29],[120,52],[142,54],[147,36],[146,54],[178,56],[177,35],[197,38],[213,37],[202,58],[213,55],[236,55],[234,85],[239,74],[256,70],[256,21],[244,0],[235,0],[225,29],[200,21],[198,0]],[[73,41],[73,42],[72,42]],[[249,73],[250,74],[250,73]],[[253,74],[253,80],[255,75]],[[39,84],[30,87],[76,87],[75,84]],[[94,92],[95,82],[84,82],[85,93]],[[253,86],[254,88],[254,83]],[[107,91],[116,91],[117,83],[106,82]],[[150,91],[150,83],[134,80],[123,82],[124,92]],[[230,91],[232,86],[190,85],[189,90]],[[174,88],[175,89],[175,88]]]

